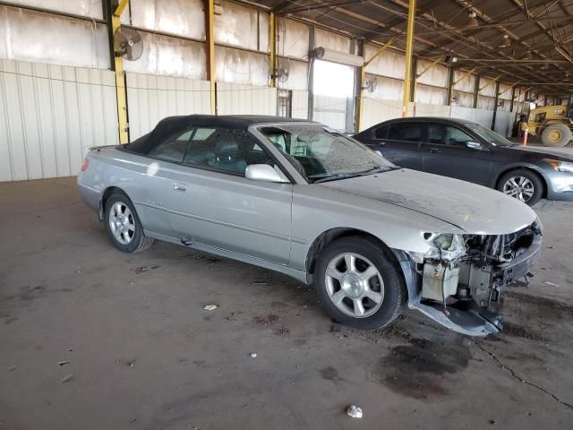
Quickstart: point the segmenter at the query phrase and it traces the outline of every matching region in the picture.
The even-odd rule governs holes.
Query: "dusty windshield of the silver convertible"
[[[265,126],[259,131],[309,182],[326,182],[396,168],[362,143],[325,125]]]

